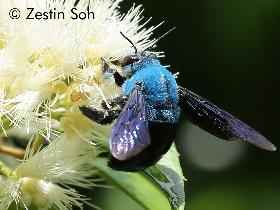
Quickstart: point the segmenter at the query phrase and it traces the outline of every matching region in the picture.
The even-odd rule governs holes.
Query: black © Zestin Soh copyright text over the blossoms
[[[55,11],[56,9],[50,9],[48,12],[36,12],[34,11],[34,8],[27,8],[27,17],[26,20],[64,20],[65,19],[65,14],[64,12],[57,12]],[[17,19],[20,17],[20,10],[17,8],[13,8],[10,10],[10,18],[12,19]],[[71,19],[76,20],[76,19],[88,19],[88,20],[94,20],[94,12],[90,12],[88,9],[88,12],[78,12],[76,8],[71,9],[71,13],[67,13],[67,15],[71,15]]]

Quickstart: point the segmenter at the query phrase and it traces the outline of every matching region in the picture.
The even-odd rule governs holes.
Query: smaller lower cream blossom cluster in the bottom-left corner
[[[27,148],[31,142],[32,138]],[[84,197],[69,185],[85,188],[95,185],[92,178],[95,170],[88,160],[96,154],[85,141],[69,144],[65,135],[55,140],[54,146],[50,144],[35,154],[34,149],[27,149],[22,163],[6,181],[0,181],[0,209],[7,209],[13,201],[26,208],[31,203],[39,209],[53,205],[60,209],[81,207]]]

